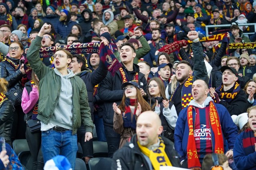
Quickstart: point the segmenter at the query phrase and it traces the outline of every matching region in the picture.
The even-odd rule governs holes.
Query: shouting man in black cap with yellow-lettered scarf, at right
[[[228,109],[230,115],[240,115],[246,112],[247,97],[238,81],[238,72],[235,68],[222,66],[222,84],[214,90],[210,88],[210,95],[216,103]]]

